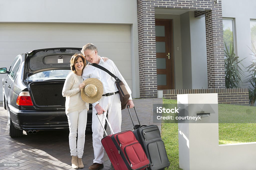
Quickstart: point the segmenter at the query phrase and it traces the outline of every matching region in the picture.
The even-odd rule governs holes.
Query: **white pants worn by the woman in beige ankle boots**
[[[71,156],[82,158],[87,123],[87,109],[68,113],[67,116],[69,125],[69,148]]]

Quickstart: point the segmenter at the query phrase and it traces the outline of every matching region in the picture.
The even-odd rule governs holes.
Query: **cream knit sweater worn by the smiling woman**
[[[81,98],[79,84],[82,82],[82,76],[78,76],[73,72],[69,73],[66,77],[62,89],[62,96],[66,97],[66,114],[83,109],[89,110],[89,104],[84,102]]]

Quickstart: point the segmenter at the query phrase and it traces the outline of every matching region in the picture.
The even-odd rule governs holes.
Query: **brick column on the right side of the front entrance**
[[[205,12],[208,88],[225,88],[221,4]]]

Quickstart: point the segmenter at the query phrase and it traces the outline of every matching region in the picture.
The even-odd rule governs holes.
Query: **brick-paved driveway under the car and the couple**
[[[162,99],[134,99],[134,104],[141,124],[153,124],[152,105],[162,103]],[[2,104],[0,103],[2,106]],[[131,110],[134,113],[134,110]],[[136,116],[133,116],[136,121]],[[68,130],[39,131],[37,134],[11,138],[8,135],[7,111],[0,107],[0,163],[20,163],[19,167],[3,167],[0,169],[73,169],[68,143]],[[161,128],[161,125],[158,124]],[[122,131],[132,129],[132,122],[128,110],[122,111]],[[108,134],[110,131],[107,130]],[[82,157],[84,168],[93,162],[92,133],[86,131],[84,154]],[[104,168],[111,168],[108,156],[104,156]]]

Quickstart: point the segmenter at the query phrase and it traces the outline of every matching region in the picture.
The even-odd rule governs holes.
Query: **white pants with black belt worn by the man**
[[[108,111],[108,120],[113,129],[114,133],[121,132],[121,123],[122,123],[122,115],[121,115],[121,101],[120,95],[114,94],[111,96],[102,96],[99,100],[99,105],[103,108],[103,110]],[[93,163],[103,164],[104,157],[104,148],[101,144],[101,139],[103,138],[104,130],[99,122],[99,119],[96,115],[96,110],[92,108],[92,145],[94,151],[94,160]],[[106,114],[106,112],[104,113]],[[104,115],[99,115],[99,118],[104,126],[105,117]],[[110,135],[110,134],[108,134]]]

